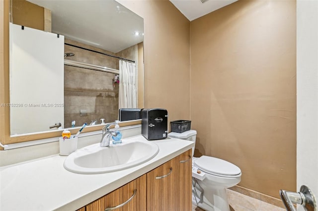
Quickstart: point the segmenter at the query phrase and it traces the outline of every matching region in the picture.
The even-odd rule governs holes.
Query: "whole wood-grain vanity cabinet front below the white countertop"
[[[191,211],[191,155],[189,149],[78,211],[105,211],[128,201],[134,190],[114,211]]]

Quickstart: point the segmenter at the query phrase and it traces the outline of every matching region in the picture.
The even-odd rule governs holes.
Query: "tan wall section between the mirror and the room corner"
[[[144,18],[145,108],[190,118],[189,20],[168,0],[118,0]]]

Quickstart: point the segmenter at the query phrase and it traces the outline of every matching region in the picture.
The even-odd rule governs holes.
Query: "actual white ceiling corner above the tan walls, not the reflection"
[[[229,5],[237,0],[170,0],[190,21]]]

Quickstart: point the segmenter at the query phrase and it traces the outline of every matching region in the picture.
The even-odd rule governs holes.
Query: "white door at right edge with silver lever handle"
[[[297,191],[302,185],[318,198],[318,0],[297,0]]]

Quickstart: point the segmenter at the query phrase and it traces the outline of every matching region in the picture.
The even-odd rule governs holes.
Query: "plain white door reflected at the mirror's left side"
[[[10,23],[11,135],[64,125],[64,36]]]

